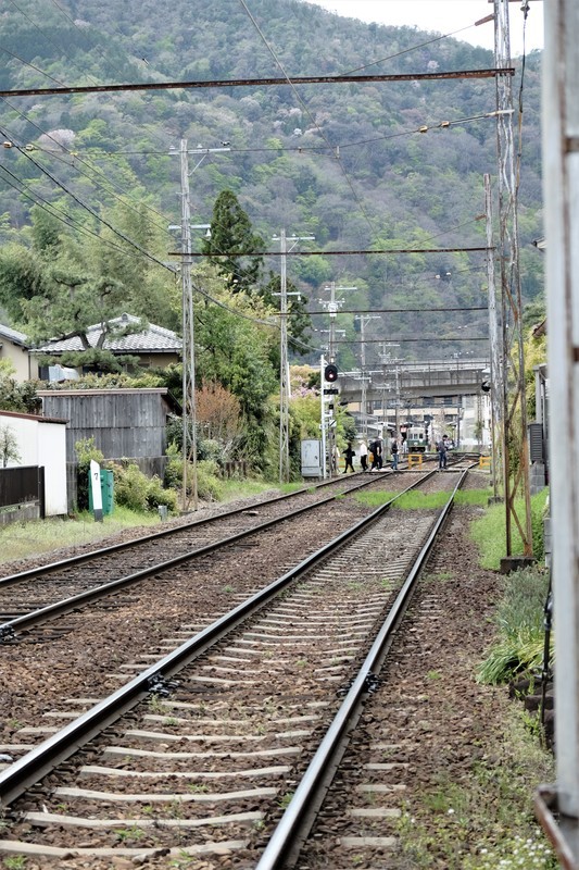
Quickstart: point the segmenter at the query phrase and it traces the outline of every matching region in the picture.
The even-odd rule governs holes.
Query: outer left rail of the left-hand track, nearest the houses
[[[361,472],[358,472],[360,474]],[[329,481],[323,481],[322,483],[314,484],[315,488],[322,488],[324,486],[329,486],[331,484],[336,484],[340,481],[338,477],[332,477]],[[369,483],[369,482],[368,482]],[[366,486],[367,484],[360,484],[361,486]],[[29,568],[25,571],[18,571],[16,574],[9,574],[5,577],[0,577],[0,588],[2,586],[9,586],[12,583],[20,583],[23,580],[33,580],[34,577],[40,576],[41,574],[52,573],[53,571],[60,571],[63,568],[71,568],[75,564],[81,564],[83,562],[90,561],[91,559],[96,559],[100,556],[109,556],[113,552],[119,552],[125,549],[129,549],[130,547],[138,546],[144,542],[149,540],[156,540],[158,538],[162,537],[169,537],[172,535],[177,535],[179,532],[186,532],[190,529],[196,529],[198,525],[211,525],[211,523],[216,523],[219,520],[227,519],[229,517],[235,517],[238,513],[246,513],[248,510],[256,510],[261,507],[267,507],[269,505],[275,505],[278,501],[284,501],[295,496],[303,495],[311,489],[312,486],[304,486],[300,489],[295,489],[293,493],[285,493],[280,496],[274,496],[273,498],[264,499],[263,501],[259,501],[255,505],[246,505],[242,508],[234,508],[232,510],[225,511],[224,513],[218,513],[214,517],[205,517],[204,519],[193,520],[190,523],[184,523],[182,525],[173,526],[171,529],[162,529],[160,532],[153,532],[149,535],[143,537],[134,537],[130,540],[123,540],[119,544],[111,544],[108,547],[102,547],[101,549],[90,550],[89,552],[80,552],[77,556],[70,556],[66,559],[60,559],[58,562],[49,562],[46,566],[40,566],[38,568]],[[354,492],[356,489],[355,486],[352,486],[349,492]],[[329,500],[329,499],[328,499]],[[324,504],[322,501],[316,504]],[[291,514],[288,514],[291,515]]]

